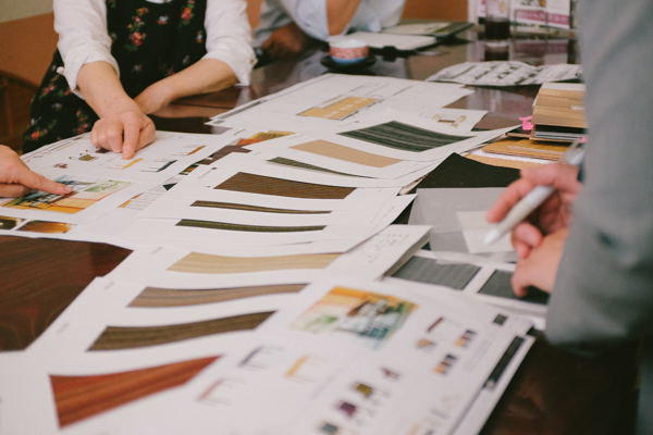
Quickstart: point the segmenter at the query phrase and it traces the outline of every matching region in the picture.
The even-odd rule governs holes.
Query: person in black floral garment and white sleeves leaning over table
[[[58,50],[32,102],[23,150],[91,130],[122,152],[155,139],[147,116],[171,101],[247,85],[243,0],[54,0]]]

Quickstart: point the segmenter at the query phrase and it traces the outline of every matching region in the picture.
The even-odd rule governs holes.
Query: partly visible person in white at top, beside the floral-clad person
[[[291,58],[329,36],[394,26],[403,10],[404,0],[263,0],[254,46],[272,59]]]

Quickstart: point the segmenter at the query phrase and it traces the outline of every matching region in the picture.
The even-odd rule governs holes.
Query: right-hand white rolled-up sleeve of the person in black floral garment
[[[208,0],[205,27],[207,54],[204,59],[226,63],[242,85],[249,85],[256,55],[245,1]]]

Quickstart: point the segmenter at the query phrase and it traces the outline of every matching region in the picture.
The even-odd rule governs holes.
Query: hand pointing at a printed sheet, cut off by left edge
[[[27,195],[29,189],[54,195],[73,191],[70,186],[54,183],[33,172],[11,148],[0,145],[0,197],[22,197]]]

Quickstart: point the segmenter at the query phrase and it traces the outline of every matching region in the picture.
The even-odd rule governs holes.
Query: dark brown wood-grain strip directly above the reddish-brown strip
[[[88,350],[116,350],[163,345],[190,338],[254,330],[274,311],[182,323],[180,325],[122,327],[108,326]]]

